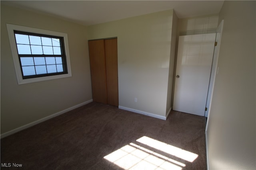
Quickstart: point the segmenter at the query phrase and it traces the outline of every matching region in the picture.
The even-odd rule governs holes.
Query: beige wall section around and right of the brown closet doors
[[[119,106],[166,116],[172,12],[88,27],[89,39],[118,37]]]

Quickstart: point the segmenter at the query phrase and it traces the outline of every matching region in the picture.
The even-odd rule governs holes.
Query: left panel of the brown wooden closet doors
[[[107,104],[106,62],[104,40],[88,41],[92,98],[94,102]]]

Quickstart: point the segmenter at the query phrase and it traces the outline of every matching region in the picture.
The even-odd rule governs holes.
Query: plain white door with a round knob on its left
[[[216,33],[179,37],[173,109],[204,116]]]

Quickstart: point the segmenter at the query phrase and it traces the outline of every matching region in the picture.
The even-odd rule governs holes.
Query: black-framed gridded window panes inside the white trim
[[[67,73],[63,37],[14,30],[23,79]]]

